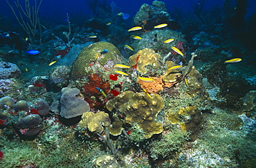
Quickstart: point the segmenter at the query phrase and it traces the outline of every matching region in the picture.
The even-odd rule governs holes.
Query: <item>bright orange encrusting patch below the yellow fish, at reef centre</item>
[[[163,88],[167,87],[170,88],[176,84],[176,82],[163,82],[162,76],[160,77],[149,77],[154,79],[154,82],[143,82],[142,80],[137,79],[138,84],[140,87],[145,89],[148,93],[158,93],[159,91],[163,91]]]

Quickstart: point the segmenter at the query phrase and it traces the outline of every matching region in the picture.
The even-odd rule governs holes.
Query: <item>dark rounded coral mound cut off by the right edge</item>
[[[251,111],[255,108],[256,104],[256,91],[249,91],[241,100],[243,111]]]

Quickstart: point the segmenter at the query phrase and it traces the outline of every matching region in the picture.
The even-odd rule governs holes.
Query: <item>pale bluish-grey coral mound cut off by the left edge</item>
[[[0,61],[0,71],[1,80],[6,80],[9,78],[19,78],[19,76],[21,75],[21,70],[18,68],[18,66],[10,62]]]

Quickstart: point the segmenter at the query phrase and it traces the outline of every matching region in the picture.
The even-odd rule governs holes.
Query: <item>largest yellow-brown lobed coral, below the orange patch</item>
[[[145,138],[150,138],[163,131],[162,124],[156,120],[164,106],[164,101],[158,94],[153,94],[152,97],[150,98],[144,92],[125,91],[113,100],[109,100],[106,105],[109,111],[122,113],[125,116],[125,124],[132,125],[136,122],[145,132]]]

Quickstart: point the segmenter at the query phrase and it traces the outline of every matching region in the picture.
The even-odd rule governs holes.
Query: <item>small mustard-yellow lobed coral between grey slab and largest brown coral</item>
[[[98,113],[87,112],[82,115],[82,120],[78,125],[82,128],[88,128],[93,133],[101,133],[103,131],[102,126],[109,126],[108,118],[109,114],[103,111],[99,111]]]

